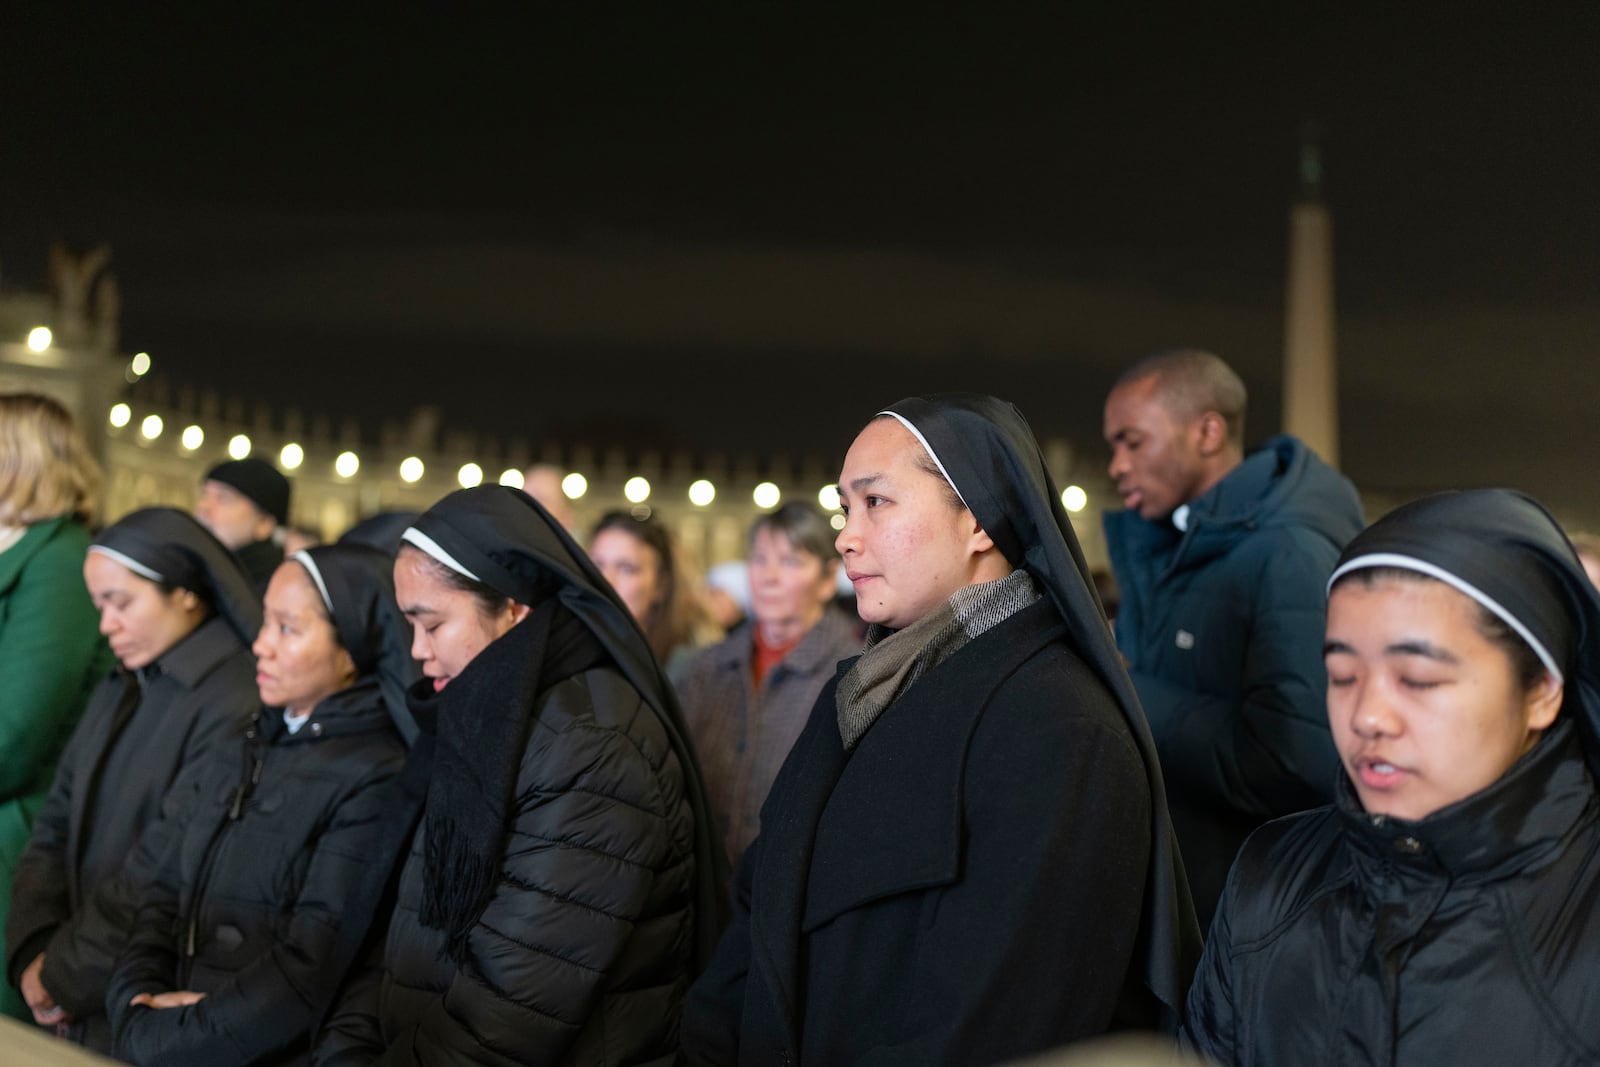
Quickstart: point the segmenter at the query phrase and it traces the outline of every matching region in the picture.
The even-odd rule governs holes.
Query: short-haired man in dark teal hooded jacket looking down
[[[1328,574],[1362,530],[1355,486],[1294,437],[1245,453],[1221,358],[1139,360],[1106,398],[1117,646],[1150,721],[1202,928],[1262,822],[1333,798],[1318,651]]]

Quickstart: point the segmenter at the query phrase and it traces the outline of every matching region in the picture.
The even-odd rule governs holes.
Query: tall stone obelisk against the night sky
[[[1299,194],[1290,208],[1283,318],[1283,430],[1339,466],[1339,376],[1333,331],[1333,216],[1322,198],[1322,150],[1301,142]]]

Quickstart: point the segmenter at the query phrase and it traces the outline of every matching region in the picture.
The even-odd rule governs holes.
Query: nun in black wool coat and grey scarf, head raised
[[[1149,729],[1021,413],[856,437],[837,547],[869,624],[778,774],[691,1064],[990,1064],[1174,1030],[1198,931]]]

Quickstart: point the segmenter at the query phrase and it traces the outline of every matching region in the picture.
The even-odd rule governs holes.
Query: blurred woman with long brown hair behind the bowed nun
[[[677,681],[709,635],[704,605],[666,525],[653,515],[606,512],[589,537],[589,558],[645,630],[650,651],[667,677]]]

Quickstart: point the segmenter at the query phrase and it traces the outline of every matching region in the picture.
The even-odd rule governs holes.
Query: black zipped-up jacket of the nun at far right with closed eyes
[[[1600,1062],[1600,805],[1570,720],[1426,819],[1336,808],[1240,853],[1184,1038],[1219,1064]]]

